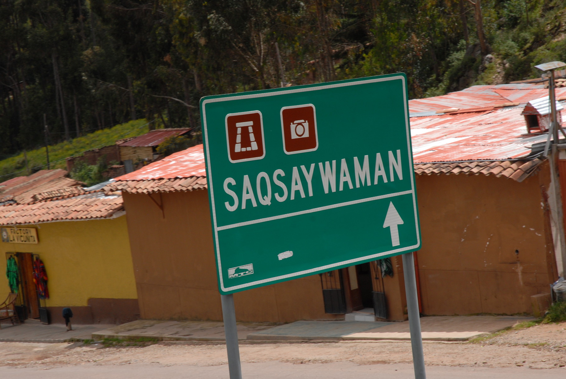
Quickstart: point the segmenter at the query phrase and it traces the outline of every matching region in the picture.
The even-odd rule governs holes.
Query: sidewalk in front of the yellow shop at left
[[[72,325],[73,330],[67,331],[65,325],[44,325],[36,320],[27,320],[20,325],[3,322],[0,329],[0,342],[65,342],[68,339],[90,339],[92,333],[108,329],[114,325]]]

